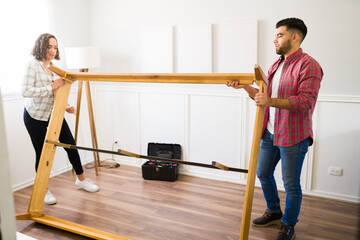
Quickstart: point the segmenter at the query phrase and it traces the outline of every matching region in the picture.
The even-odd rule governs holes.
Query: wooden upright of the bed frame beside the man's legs
[[[264,84],[260,84],[260,92],[263,92]],[[251,209],[254,197],[256,168],[259,157],[261,133],[264,123],[264,109],[262,107],[256,108],[254,134],[251,145],[251,155],[248,169],[248,176],[245,190],[245,200],[243,207],[243,215],[241,220],[240,240],[247,240],[249,237]]]

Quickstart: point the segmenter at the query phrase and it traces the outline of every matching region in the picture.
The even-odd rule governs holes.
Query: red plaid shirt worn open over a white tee
[[[269,69],[268,95],[271,96],[272,78],[284,59],[281,56]],[[300,48],[289,55],[280,77],[278,98],[289,99],[293,109],[276,108],[274,145],[289,147],[306,138],[313,143],[312,114],[314,112],[323,71],[319,63],[303,53]],[[269,108],[265,108],[263,134],[269,119]]]

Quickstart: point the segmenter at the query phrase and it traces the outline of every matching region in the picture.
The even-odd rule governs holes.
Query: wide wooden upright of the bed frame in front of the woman
[[[48,125],[45,139],[52,140],[54,142],[57,142],[59,139],[67,105],[67,99],[69,98],[70,88],[71,84],[65,82],[64,86],[56,90],[53,111],[51,114],[51,119]],[[44,204],[46,189],[49,183],[49,177],[51,173],[51,167],[54,161],[54,156],[54,144],[44,142],[28,209],[28,212],[32,216],[43,215],[42,207]]]

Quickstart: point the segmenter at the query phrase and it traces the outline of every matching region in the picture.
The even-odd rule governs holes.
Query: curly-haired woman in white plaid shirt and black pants
[[[34,56],[34,58],[29,62],[24,75],[22,95],[25,98],[24,123],[35,149],[35,170],[37,171],[50,114],[54,104],[55,92],[56,89],[63,86],[65,82],[48,68],[48,66],[52,64],[51,60],[60,59],[57,40],[53,35],[48,33],[40,35],[35,42],[31,55]],[[76,112],[75,108],[70,106],[66,108],[66,111],[72,114]],[[61,128],[59,141],[75,144],[75,140],[65,119]],[[65,151],[77,175],[75,185],[88,192],[98,191],[98,186],[92,183],[89,178],[85,178],[78,151],[75,149],[65,149]],[[51,194],[49,189],[46,191],[44,203],[56,203],[56,198]]]

